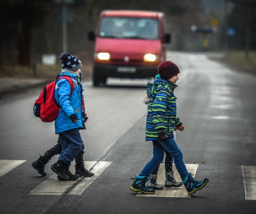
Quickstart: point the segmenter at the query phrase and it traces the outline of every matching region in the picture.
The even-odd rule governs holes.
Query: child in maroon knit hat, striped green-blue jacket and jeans
[[[136,175],[130,189],[134,192],[154,194],[155,190],[146,187],[150,174],[162,163],[164,151],[167,150],[173,157],[174,163],[183,185],[189,195],[202,189],[207,183],[205,178],[201,181],[194,179],[188,173],[183,161],[183,153],[174,139],[174,129],[183,131],[184,126],[176,115],[176,96],[174,88],[179,79],[178,66],[171,61],[164,61],[158,66],[158,77],[153,83],[148,82],[147,94],[148,115],[146,120],[146,141],[153,143],[153,157],[145,165],[139,175]]]

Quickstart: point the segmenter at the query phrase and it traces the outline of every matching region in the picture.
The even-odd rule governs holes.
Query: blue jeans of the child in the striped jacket
[[[164,150],[167,150],[174,159],[174,164],[182,180],[188,175],[185,163],[183,161],[183,153],[174,138],[153,140],[153,157],[142,169],[140,176],[148,177],[164,159]]]

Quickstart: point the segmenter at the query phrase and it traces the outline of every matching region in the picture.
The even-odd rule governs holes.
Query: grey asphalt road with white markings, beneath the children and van
[[[46,177],[32,168],[57,140],[54,124],[32,113],[41,88],[0,102],[0,213],[255,214],[256,77],[204,53],[169,52],[167,58],[181,71],[175,95],[185,131],[177,142],[195,177],[208,177],[205,188],[193,196],[184,187],[147,196],[132,192],[132,178],[152,155],[152,143],[144,140],[146,80],[110,79],[98,88],[86,81],[89,120],[81,133],[86,167],[95,172],[91,179],[57,181],[50,170],[57,157],[46,165]]]

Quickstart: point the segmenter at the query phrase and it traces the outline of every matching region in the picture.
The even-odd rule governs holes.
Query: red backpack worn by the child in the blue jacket
[[[60,79],[68,80],[71,96],[74,88],[72,79],[70,77],[60,77],[58,80]],[[60,106],[56,104],[54,99],[55,85],[58,80],[47,84],[34,103],[34,115],[40,118],[42,122],[53,122],[58,117]]]

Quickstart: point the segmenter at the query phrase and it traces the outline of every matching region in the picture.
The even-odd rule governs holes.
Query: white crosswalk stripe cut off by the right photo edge
[[[256,200],[256,167],[241,167],[244,180],[245,200]]]

